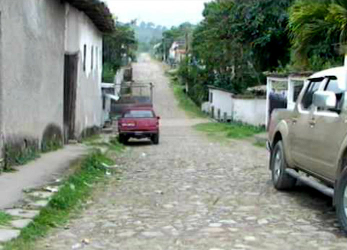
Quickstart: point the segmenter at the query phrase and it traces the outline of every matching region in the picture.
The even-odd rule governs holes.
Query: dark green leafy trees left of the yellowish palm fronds
[[[286,30],[286,9],[290,2],[215,0],[205,3],[204,18],[190,39],[190,56],[181,62],[178,70],[189,96],[200,103],[206,98],[207,85],[241,93],[249,86],[263,84],[263,71],[285,66],[290,60]]]

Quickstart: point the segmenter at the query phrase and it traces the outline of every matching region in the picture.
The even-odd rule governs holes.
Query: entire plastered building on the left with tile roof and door
[[[0,157],[102,125],[102,34],[114,29],[100,0],[1,0]]]

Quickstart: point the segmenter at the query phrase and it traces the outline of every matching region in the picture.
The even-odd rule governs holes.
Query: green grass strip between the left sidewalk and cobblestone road
[[[74,173],[64,181],[48,205],[41,209],[40,214],[22,229],[20,236],[4,244],[4,249],[34,249],[35,240],[45,236],[51,228],[66,223],[71,212],[81,208],[90,197],[93,184],[104,180],[105,172],[110,171],[103,163],[114,164],[113,160],[101,154],[99,150],[94,150],[71,165],[75,169]]]

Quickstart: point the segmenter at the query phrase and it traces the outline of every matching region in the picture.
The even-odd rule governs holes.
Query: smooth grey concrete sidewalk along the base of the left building
[[[58,178],[71,161],[87,152],[85,145],[66,145],[60,150],[41,154],[41,157],[26,165],[15,167],[15,172],[1,173],[0,209],[19,202],[23,198],[23,189],[39,187]]]

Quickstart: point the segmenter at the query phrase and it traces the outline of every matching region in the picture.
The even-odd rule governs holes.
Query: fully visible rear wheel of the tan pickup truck
[[[295,186],[296,179],[285,172],[287,163],[284,155],[283,142],[279,140],[271,151],[271,176],[273,186],[277,190],[290,189]]]

